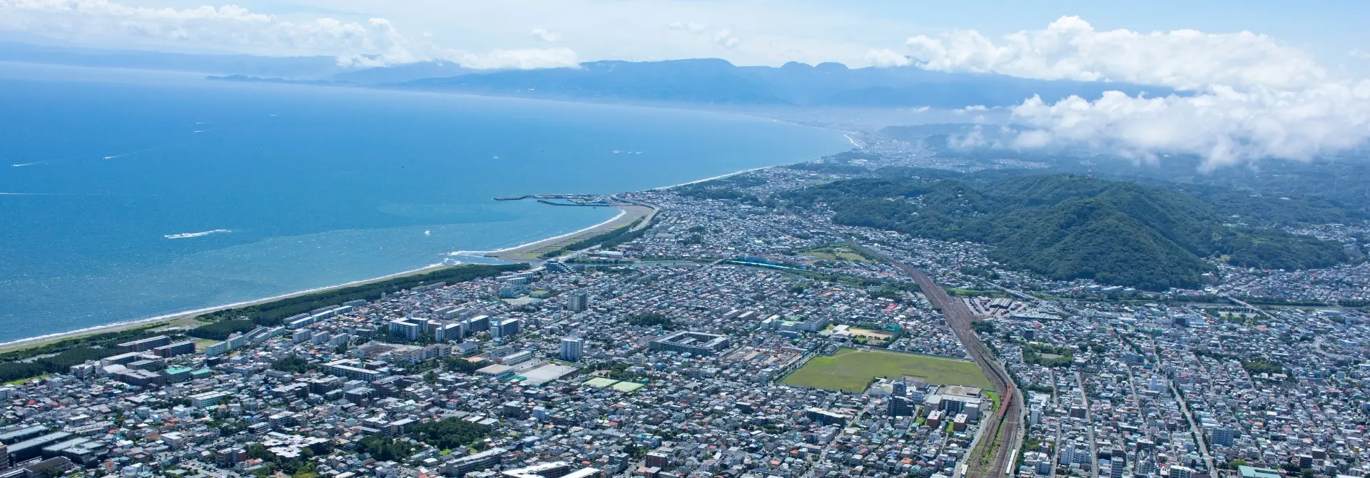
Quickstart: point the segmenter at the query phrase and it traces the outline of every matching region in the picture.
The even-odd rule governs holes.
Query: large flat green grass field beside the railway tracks
[[[889,351],[844,348],[818,356],[781,383],[815,389],[862,392],[875,377],[919,377],[929,383],[970,385],[993,390],[989,378],[973,362]]]

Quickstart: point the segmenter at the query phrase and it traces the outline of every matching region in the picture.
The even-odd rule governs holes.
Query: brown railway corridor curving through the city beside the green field
[[[1022,446],[1023,404],[1017,386],[1008,379],[1008,373],[1004,371],[1003,364],[995,360],[995,356],[989,353],[985,344],[975,336],[975,331],[970,329],[970,323],[975,320],[975,316],[966,307],[964,301],[947,294],[947,290],[933,282],[923,271],[888,256],[885,259],[903,270],[904,274],[908,274],[923,289],[923,296],[927,297],[927,301],[937,310],[941,310],[947,318],[947,326],[956,334],[956,340],[960,341],[966,353],[980,366],[985,377],[989,377],[989,382],[995,385],[995,390],[1003,397],[1000,400],[1003,405],[995,411],[995,416],[984,420],[982,426],[985,430],[982,431],[984,438],[981,438],[980,445],[966,457],[966,463],[970,464],[966,478],[1011,477],[1012,473],[1008,473],[1008,467],[1012,464],[1015,452]],[[997,448],[996,444],[999,444]],[[993,459],[988,463],[982,463],[980,459],[985,453],[993,453]]]

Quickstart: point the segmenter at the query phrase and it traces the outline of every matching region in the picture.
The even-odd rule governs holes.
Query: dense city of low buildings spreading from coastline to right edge
[[[1370,318],[1233,299],[1363,301],[1365,264],[1051,281],[770,200],[843,173],[743,177],[607,199],[656,210],[612,245],[8,383],[0,478],[1370,473]]]

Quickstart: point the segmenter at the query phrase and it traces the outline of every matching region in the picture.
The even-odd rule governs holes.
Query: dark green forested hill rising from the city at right
[[[833,221],[992,245],[992,259],[1056,278],[1147,290],[1192,288],[1206,257],[1258,268],[1349,260],[1340,244],[1230,222],[1244,201],[1207,201],[1167,188],[1078,175],[997,179],[878,171],[793,192],[793,207],[827,204]]]

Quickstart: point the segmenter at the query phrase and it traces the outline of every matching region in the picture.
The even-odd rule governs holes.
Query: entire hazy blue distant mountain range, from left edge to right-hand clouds
[[[340,66],[329,56],[163,53],[0,41],[0,62],[192,71],[233,81],[647,104],[963,108],[1014,105],[1033,95],[1055,101],[1071,95],[1095,99],[1106,90],[1152,96],[1175,93],[1162,86],[1040,81],[927,71],[912,66],[848,68],[841,63],[786,63],[769,67],[736,66],[721,59],[606,60],[581,63],[575,68],[543,70],[471,70],[449,62],[355,68]]]

